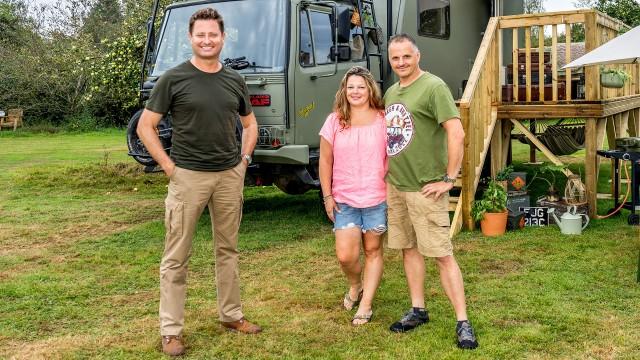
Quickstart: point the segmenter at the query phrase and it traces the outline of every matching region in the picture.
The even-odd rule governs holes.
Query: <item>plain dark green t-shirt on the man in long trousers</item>
[[[236,117],[252,109],[247,85],[234,70],[207,73],[186,61],[160,76],[146,108],[171,113],[176,166],[222,171],[240,162]]]

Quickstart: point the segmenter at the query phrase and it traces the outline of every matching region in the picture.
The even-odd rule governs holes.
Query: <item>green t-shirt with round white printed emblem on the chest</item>
[[[441,124],[460,118],[447,85],[424,73],[409,86],[384,94],[387,121],[386,180],[400,191],[419,191],[447,171],[447,133]]]

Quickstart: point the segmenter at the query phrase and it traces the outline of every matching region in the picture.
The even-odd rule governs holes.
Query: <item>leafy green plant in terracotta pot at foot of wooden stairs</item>
[[[495,179],[491,179],[480,200],[471,207],[471,216],[480,221],[485,236],[504,234],[507,228],[507,191]]]

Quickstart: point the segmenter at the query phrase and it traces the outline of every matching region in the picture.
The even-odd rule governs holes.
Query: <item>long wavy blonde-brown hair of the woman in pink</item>
[[[342,129],[351,126],[351,106],[347,100],[347,81],[351,76],[360,76],[364,79],[367,89],[369,89],[369,106],[376,110],[384,109],[380,87],[378,87],[371,72],[362,66],[354,66],[342,77],[340,87],[336,93],[336,99],[333,102],[333,111],[338,115]]]

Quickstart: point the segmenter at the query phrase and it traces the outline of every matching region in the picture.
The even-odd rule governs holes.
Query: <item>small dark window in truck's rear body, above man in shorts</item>
[[[450,0],[418,0],[418,34],[448,39],[451,32]]]

